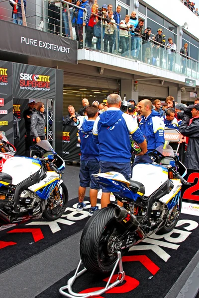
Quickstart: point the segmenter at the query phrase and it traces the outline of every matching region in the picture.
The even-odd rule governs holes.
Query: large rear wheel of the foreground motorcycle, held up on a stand
[[[87,270],[95,274],[112,271],[117,252],[112,252],[111,245],[123,233],[124,228],[115,220],[114,208],[103,208],[91,217],[80,240],[80,255]]]

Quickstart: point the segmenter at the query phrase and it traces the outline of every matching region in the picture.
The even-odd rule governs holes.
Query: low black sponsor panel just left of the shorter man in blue
[[[80,162],[80,143],[78,141],[77,126],[63,128],[63,159]]]

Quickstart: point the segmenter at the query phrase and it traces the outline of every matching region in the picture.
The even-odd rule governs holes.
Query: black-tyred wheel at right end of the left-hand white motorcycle
[[[49,222],[59,219],[66,210],[66,207],[68,204],[68,189],[64,183],[61,184],[61,187],[62,187],[62,200],[63,200],[62,205],[58,205],[57,207],[50,209],[49,203],[47,203],[46,208],[43,212],[42,217]],[[50,197],[50,199],[51,198],[52,196]]]

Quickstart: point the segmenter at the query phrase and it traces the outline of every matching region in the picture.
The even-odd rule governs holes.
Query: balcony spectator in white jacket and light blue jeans
[[[130,28],[130,15],[126,14],[125,19],[120,22],[119,38],[121,45],[121,56],[129,57],[129,31]]]

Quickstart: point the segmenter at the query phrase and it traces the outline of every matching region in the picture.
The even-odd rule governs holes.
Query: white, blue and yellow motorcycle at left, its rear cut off
[[[55,221],[67,207],[64,160],[46,140],[30,149],[38,156],[11,157],[0,172],[0,230],[41,217]]]

